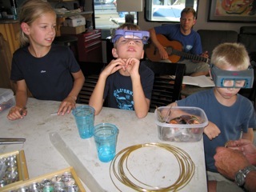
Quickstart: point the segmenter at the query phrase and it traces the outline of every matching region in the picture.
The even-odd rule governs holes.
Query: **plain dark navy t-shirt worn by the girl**
[[[14,52],[10,79],[24,79],[34,98],[62,101],[73,88],[71,73],[79,70],[68,46],[52,44],[49,53],[42,58],[35,58],[25,46]]]

